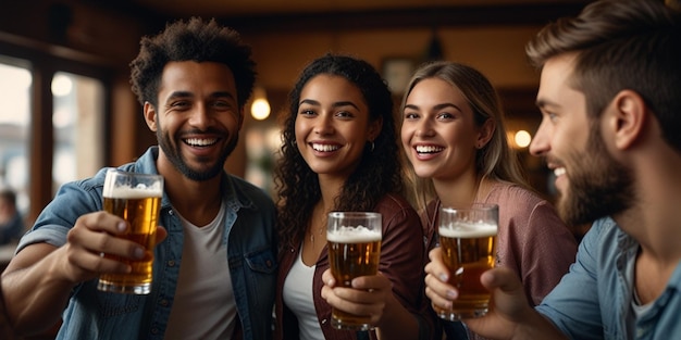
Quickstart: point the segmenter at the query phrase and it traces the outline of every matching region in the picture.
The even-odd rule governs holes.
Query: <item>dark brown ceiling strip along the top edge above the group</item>
[[[159,20],[212,16],[243,32],[543,25],[589,0],[120,0]]]

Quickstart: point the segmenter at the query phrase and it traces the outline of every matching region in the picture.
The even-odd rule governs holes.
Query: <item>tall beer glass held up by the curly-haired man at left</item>
[[[104,179],[104,211],[125,218],[131,228],[120,237],[141,244],[146,251],[141,260],[103,254],[131,265],[128,274],[102,274],[97,288],[119,293],[148,294],[151,291],[151,267],[156,230],[163,196],[160,175],[126,173],[109,169]]]

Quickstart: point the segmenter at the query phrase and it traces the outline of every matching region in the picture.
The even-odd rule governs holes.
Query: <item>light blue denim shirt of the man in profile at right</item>
[[[615,221],[598,219],[570,272],[536,310],[572,339],[681,339],[681,263],[649,308],[639,317],[633,313],[639,248]]]

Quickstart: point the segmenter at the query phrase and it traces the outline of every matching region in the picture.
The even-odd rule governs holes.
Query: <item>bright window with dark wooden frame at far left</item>
[[[18,54],[0,55],[0,188],[32,225],[61,185],[103,166],[108,97],[83,63]]]

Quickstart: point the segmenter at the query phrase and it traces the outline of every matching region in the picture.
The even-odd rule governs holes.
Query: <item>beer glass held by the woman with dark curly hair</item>
[[[329,265],[338,287],[352,287],[359,276],[376,275],[381,255],[381,214],[371,212],[331,212],[326,241]],[[331,325],[336,329],[368,330],[369,315],[352,315],[332,308]]]

